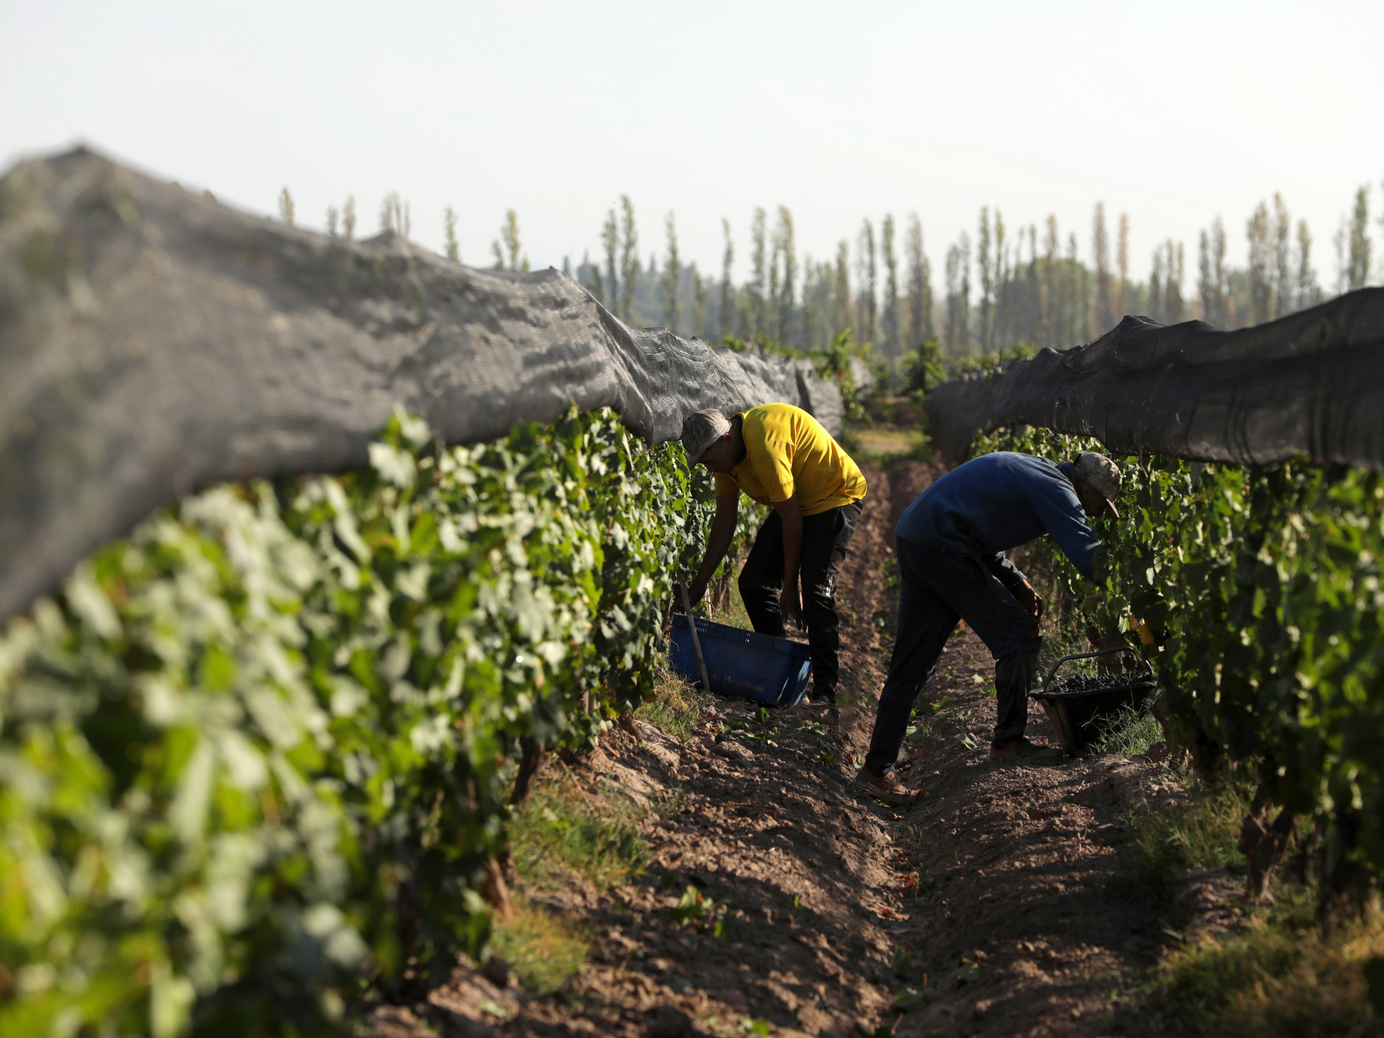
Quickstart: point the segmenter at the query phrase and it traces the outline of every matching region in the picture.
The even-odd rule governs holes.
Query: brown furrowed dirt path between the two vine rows
[[[642,721],[617,731],[580,781],[673,807],[646,814],[653,861],[639,882],[602,898],[574,882],[547,898],[591,927],[592,960],[549,999],[458,969],[428,1005],[381,1010],[379,1038],[1113,1032],[1160,923],[1106,879],[1121,810],[1165,794],[1160,772],[1116,758],[990,764],[994,668],[967,631],[929,692],[948,704],[905,750],[916,756],[902,774],[925,800],[905,815],[853,792],[889,662],[890,530],[934,473],[866,475],[839,590],[841,691],[859,706],[843,710],[840,738],[810,710],[763,724],[752,704],[721,699],[686,743]],[[1030,732],[1050,736],[1041,716]],[[689,887],[707,915],[678,925],[680,901],[696,912]],[[739,919],[718,937],[721,907]]]

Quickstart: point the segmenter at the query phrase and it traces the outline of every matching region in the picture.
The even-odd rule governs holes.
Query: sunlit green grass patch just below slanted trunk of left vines
[[[570,776],[541,782],[509,823],[519,877],[534,889],[567,886],[567,873],[605,893],[639,873],[649,848],[637,822],[645,808],[597,797]]]

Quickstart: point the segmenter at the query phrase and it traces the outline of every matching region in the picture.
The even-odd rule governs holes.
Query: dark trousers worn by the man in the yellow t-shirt
[[[836,619],[836,574],[846,561],[859,516],[859,501],[803,516],[803,555],[797,569],[807,646],[812,653],[812,698],[833,703],[841,645],[840,620]],[[778,512],[771,513],[754,534],[754,547],[740,569],[739,587],[754,630],[782,638],[783,612],[778,598],[783,590],[783,520]]]

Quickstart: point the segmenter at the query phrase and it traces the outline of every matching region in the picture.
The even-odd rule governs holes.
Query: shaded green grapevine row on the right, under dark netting
[[[976,451],[1100,450],[1044,429]],[[1157,632],[1163,709],[1189,743],[1258,764],[1276,803],[1329,821],[1336,861],[1384,866],[1384,476],[1122,459],[1099,590],[1052,552],[1089,623]]]

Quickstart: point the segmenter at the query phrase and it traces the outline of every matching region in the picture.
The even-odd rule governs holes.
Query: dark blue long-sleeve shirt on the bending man
[[[958,465],[913,500],[894,534],[933,551],[977,555],[1005,584],[1023,577],[1002,555],[1049,534],[1093,580],[1100,541],[1086,523],[1071,462],[999,451]],[[1003,572],[1001,572],[1003,570]]]

